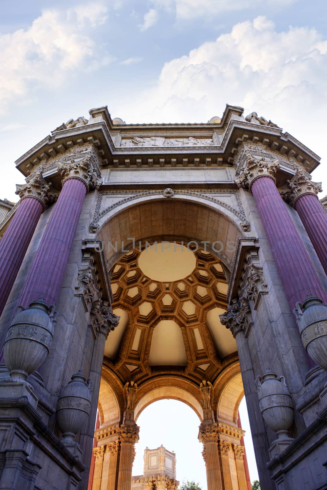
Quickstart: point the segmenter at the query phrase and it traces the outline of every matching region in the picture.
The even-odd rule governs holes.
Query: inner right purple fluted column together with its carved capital
[[[241,175],[235,179],[239,187],[248,188],[254,197],[267,239],[274,256],[291,311],[297,301],[308,294],[327,302],[326,294],[297,229],[277,187],[277,160],[255,160],[250,154]]]

